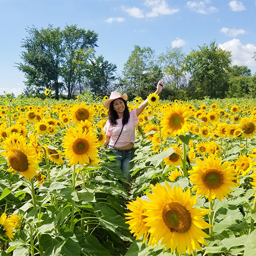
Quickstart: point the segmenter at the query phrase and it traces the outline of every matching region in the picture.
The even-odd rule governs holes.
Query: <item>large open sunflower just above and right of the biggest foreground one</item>
[[[192,190],[201,198],[205,196],[209,202],[215,198],[221,201],[230,194],[231,187],[236,187],[232,173],[227,171],[228,162],[221,164],[221,161],[221,158],[213,156],[204,156],[204,161],[197,158],[197,166],[188,171],[190,182],[195,184]]]

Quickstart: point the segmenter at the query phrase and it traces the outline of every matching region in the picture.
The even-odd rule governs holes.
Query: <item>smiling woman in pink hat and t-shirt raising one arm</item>
[[[162,91],[162,80],[157,83],[156,94]],[[104,106],[109,109],[109,119],[103,128],[106,133],[104,146],[109,146],[117,155],[116,163],[121,168],[126,181],[130,182],[129,171],[131,169],[132,149],[135,142],[135,126],[138,124],[138,116],[148,104],[146,99],[137,109],[129,112],[126,104],[127,94],[122,96],[117,92],[112,92],[110,98],[104,102]]]

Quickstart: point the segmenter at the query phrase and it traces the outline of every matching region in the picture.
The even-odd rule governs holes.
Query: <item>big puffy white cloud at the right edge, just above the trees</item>
[[[234,38],[224,44],[219,44],[219,47],[231,52],[232,65],[256,67],[256,61],[253,59],[256,45],[242,45],[239,39]]]

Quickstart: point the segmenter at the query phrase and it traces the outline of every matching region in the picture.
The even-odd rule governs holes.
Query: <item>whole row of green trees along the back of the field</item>
[[[231,66],[231,53],[216,41],[187,55],[182,47],[167,47],[156,56],[150,47],[135,45],[117,75],[114,63],[96,56],[98,34],[92,30],[76,25],[26,30],[22,62],[16,64],[25,74],[27,96],[40,97],[49,89],[56,99],[71,99],[85,90],[103,97],[120,90],[130,99],[145,98],[162,78],[163,99],[255,97],[256,75],[247,66]]]

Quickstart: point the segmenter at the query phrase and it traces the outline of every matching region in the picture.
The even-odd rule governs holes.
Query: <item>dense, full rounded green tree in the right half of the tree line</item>
[[[228,90],[227,74],[231,64],[231,53],[220,49],[215,41],[209,46],[193,50],[185,59],[185,69],[191,74],[191,80],[197,84],[196,90],[202,96],[224,98]]]

